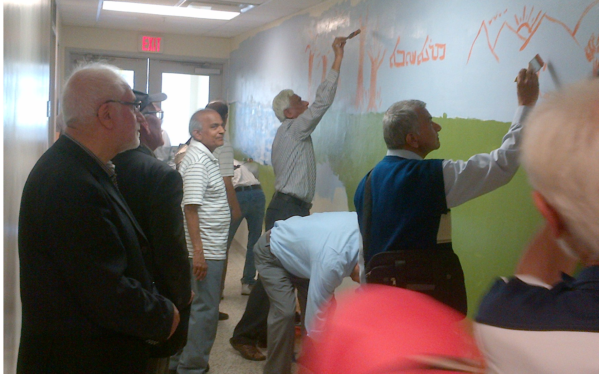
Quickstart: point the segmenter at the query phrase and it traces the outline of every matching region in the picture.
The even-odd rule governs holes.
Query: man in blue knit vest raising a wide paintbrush
[[[425,160],[440,147],[439,124],[426,104],[396,102],[383,117],[388,151],[370,173],[372,211],[365,263],[390,250],[451,248],[449,209],[508,183],[518,170],[522,123],[539,98],[537,75],[517,78],[518,110],[501,147],[463,160]],[[354,196],[362,235],[364,177]],[[366,252],[366,249],[365,249]]]

